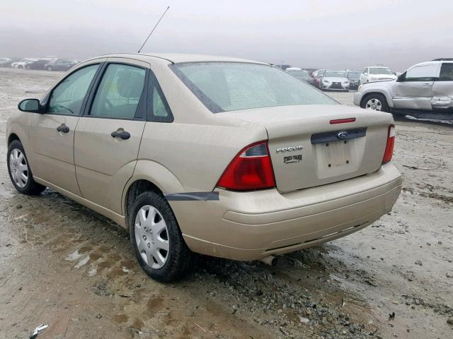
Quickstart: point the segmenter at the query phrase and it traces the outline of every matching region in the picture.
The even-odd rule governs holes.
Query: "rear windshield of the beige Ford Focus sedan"
[[[170,67],[212,113],[260,107],[338,104],[275,66],[197,62]]]

